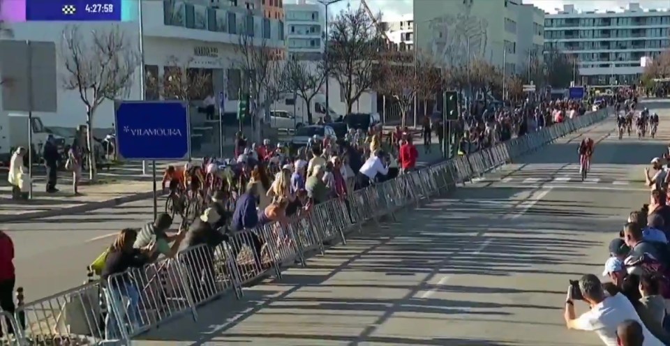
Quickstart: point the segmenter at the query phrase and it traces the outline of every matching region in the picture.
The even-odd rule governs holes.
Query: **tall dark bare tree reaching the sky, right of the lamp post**
[[[332,21],[328,47],[329,75],[343,90],[346,112],[364,91],[378,82],[380,51],[378,30],[363,8],[348,8]]]

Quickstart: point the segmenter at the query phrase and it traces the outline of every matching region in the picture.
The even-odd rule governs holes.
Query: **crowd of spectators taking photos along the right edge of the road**
[[[643,179],[649,203],[630,213],[609,243],[602,277],[571,281],[565,300],[569,329],[595,331],[605,345],[670,345],[670,161],[654,158]],[[664,164],[665,160],[665,164]],[[653,172],[650,172],[653,171]],[[577,316],[575,301],[590,309]]]

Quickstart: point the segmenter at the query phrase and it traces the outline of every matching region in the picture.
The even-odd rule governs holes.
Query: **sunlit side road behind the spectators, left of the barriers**
[[[433,153],[419,154],[423,165],[439,159],[437,145],[433,146]],[[164,208],[165,200],[160,200],[158,211]],[[84,283],[86,267],[103,253],[119,230],[150,222],[153,210],[149,199],[77,215],[1,224],[15,243],[17,286],[24,287],[26,301]]]

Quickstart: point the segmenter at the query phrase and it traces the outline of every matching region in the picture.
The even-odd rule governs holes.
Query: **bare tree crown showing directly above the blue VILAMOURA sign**
[[[169,57],[163,75],[147,73],[147,91],[165,100],[202,100],[212,92],[211,74],[192,68],[193,58],[179,61]]]

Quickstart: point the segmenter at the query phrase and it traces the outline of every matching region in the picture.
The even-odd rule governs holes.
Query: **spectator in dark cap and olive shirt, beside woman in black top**
[[[177,234],[168,236],[165,232],[170,229],[171,225],[172,217],[167,213],[159,213],[153,223],[147,223],[140,229],[140,232],[137,233],[133,247],[141,249],[146,248],[152,243],[156,243],[157,251],[154,253],[154,257],[151,258],[152,261],[157,260],[158,256],[161,254],[165,257],[174,258],[179,251],[181,241],[183,241],[186,236],[186,230],[179,228]],[[170,243],[172,243],[172,246],[170,246]]]

